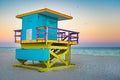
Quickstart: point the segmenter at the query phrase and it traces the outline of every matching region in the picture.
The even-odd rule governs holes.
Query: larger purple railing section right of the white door
[[[36,31],[37,32],[36,40],[38,40],[39,34],[42,34],[41,32],[38,33],[38,30],[41,30],[41,29],[45,29],[44,30],[45,32],[43,32],[43,34],[45,34],[45,36],[44,36],[45,41],[47,41],[48,34],[56,34],[56,33],[53,33],[53,32],[48,32],[48,29],[54,29],[54,30],[57,30],[57,39],[58,39],[58,41],[60,41],[60,40],[65,41],[68,38],[67,39],[68,42],[77,42],[78,43],[78,34],[79,34],[79,32],[60,29],[60,28],[47,27],[47,26],[42,26],[42,27],[37,27],[36,28],[36,30],[37,30]],[[73,35],[75,35],[75,36],[73,36]]]

